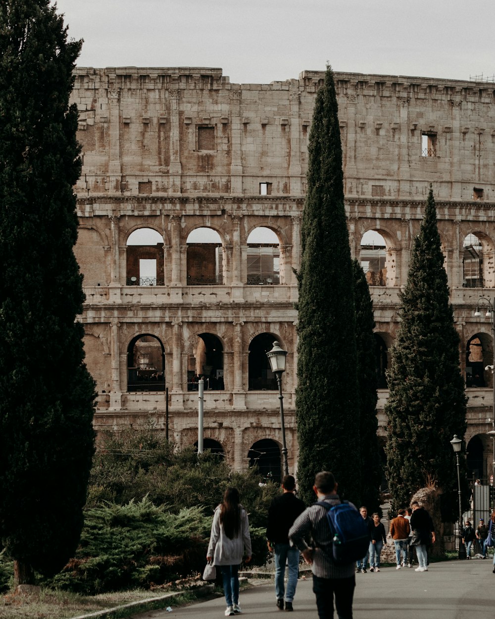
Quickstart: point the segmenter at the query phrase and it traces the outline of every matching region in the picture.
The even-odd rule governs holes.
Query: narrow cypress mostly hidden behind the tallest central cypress
[[[376,416],[377,375],[375,358],[375,326],[373,302],[366,276],[357,260],[353,260],[354,294],[356,301],[356,348],[358,354],[359,436],[361,438],[361,503],[372,514],[380,507],[382,464],[378,447]]]

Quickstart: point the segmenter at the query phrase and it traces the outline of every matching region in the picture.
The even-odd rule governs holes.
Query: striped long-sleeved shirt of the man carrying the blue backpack
[[[334,506],[340,503],[340,499],[336,494],[325,495],[318,499],[325,501]],[[349,503],[355,508],[355,505]],[[314,548],[313,563],[311,571],[319,578],[351,578],[356,573],[356,564],[354,561],[349,565],[335,565],[332,558],[332,550],[327,551],[322,547],[328,547],[332,542],[332,534],[330,533],[329,523],[327,522],[327,510],[321,505],[312,505],[306,508],[305,511],[294,522],[289,531],[289,538],[293,545],[299,548],[301,552],[306,548]],[[311,546],[306,543],[306,540],[312,539]]]

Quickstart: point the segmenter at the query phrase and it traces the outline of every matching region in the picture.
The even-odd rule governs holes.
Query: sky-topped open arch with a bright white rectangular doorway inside
[[[139,228],[127,238],[127,286],[165,284],[163,238],[152,228]]]

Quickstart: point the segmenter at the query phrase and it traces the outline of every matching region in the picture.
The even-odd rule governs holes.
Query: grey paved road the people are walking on
[[[495,574],[490,560],[443,561],[428,572],[383,568],[378,574],[356,574],[354,619],[494,619]],[[290,619],[317,619],[311,578],[300,580]],[[283,619],[275,607],[273,584],[241,591],[246,619]],[[225,600],[198,602],[173,611],[153,611],[136,619],[223,619]],[[239,618],[241,619],[241,618]],[[335,617],[337,619],[337,617]]]

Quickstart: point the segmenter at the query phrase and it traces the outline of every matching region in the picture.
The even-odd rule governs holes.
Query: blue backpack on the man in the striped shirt
[[[332,558],[337,565],[348,565],[366,556],[369,548],[368,524],[348,501],[331,506],[317,501],[327,510],[327,522],[332,532]]]

